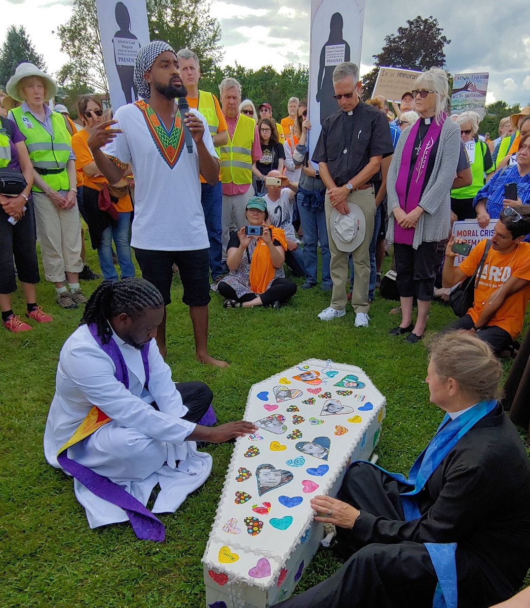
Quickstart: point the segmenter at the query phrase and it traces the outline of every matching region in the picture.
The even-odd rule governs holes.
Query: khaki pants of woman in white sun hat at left
[[[43,192],[33,192],[37,236],[41,244],[44,274],[52,283],[62,283],[64,272],[81,272],[81,223],[77,203],[58,209]],[[62,191],[66,196],[67,192]]]

